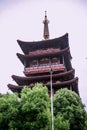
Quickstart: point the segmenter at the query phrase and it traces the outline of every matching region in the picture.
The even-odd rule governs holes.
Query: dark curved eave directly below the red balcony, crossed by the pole
[[[60,74],[53,74],[53,78],[61,78],[61,77],[65,77],[65,76],[71,76],[72,78],[74,77],[74,72],[75,70],[72,69],[70,71],[67,72],[62,72]],[[16,75],[12,75],[12,79],[15,80],[15,82],[18,85],[25,85],[25,84],[29,84],[31,82],[38,82],[40,80],[50,80],[50,75],[43,75],[43,76],[33,76],[33,77],[20,77],[20,76],[16,76]]]

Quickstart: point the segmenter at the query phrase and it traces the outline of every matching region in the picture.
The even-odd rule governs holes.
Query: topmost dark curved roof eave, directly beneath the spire
[[[60,47],[60,48],[66,48],[69,46],[68,44],[68,33],[65,35],[55,38],[55,39],[49,39],[49,40],[43,40],[43,41],[35,41],[35,42],[25,42],[21,40],[17,40],[19,46],[21,47],[24,54],[28,54],[29,51],[34,51],[38,49],[46,49],[46,48],[52,48],[52,47]]]

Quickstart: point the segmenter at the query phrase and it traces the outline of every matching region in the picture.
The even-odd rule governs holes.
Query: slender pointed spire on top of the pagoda
[[[45,11],[45,19],[43,21],[44,24],[44,33],[43,37],[45,40],[49,39],[49,27],[48,27],[49,20],[47,19],[47,12]]]

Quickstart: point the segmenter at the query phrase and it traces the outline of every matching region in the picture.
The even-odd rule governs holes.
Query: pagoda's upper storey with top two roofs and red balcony
[[[49,72],[50,68],[54,72],[66,71],[72,68],[68,34],[57,39],[40,42],[23,42],[18,40],[18,44],[24,52],[24,55],[17,53],[17,56],[24,65],[24,74],[26,76]]]

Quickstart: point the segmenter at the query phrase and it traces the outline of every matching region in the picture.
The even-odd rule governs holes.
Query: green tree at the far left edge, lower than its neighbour
[[[0,130],[8,130],[10,123],[15,120],[18,112],[18,96],[6,94],[0,97]]]

